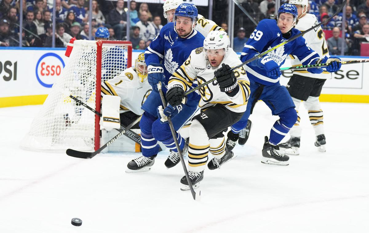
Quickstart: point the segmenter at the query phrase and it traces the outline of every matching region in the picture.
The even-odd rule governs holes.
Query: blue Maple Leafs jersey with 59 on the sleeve
[[[300,31],[296,28],[292,28],[290,38],[300,34]],[[247,41],[244,49],[241,53],[241,60],[245,62],[253,58],[258,53],[262,53],[271,49],[272,47],[287,41],[287,38],[283,38],[282,32],[277,26],[276,20],[265,19],[259,22],[258,26],[252,32],[250,39]],[[305,42],[305,39],[300,36],[299,38],[291,41],[279,48],[269,52],[270,56],[279,67],[283,65],[289,54],[295,55],[303,65],[315,64],[315,61],[319,58],[317,52],[309,48]],[[279,82],[278,78],[270,78],[267,76],[265,69],[261,69],[256,66],[256,63],[248,63],[244,66],[247,72],[247,77],[250,80],[254,80],[257,83],[271,86]]]

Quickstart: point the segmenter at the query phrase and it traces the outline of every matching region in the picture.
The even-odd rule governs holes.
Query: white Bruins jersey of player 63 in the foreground
[[[230,67],[241,64],[238,55],[229,48],[222,63],[228,64]],[[205,58],[203,48],[194,49],[189,58],[183,63],[179,69],[170,77],[168,89],[175,84],[179,84],[186,91],[192,87],[193,83],[200,85],[214,78],[214,72],[219,67],[212,67]],[[230,97],[220,91],[217,81],[200,88],[199,94],[201,99],[199,107],[201,109],[211,107],[215,104],[223,104],[227,109],[233,112],[246,111],[247,100],[250,95],[250,82],[246,76],[246,71],[243,67],[234,70],[239,90],[234,97]]]

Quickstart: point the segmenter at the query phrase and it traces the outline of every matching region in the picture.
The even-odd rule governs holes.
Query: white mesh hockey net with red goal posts
[[[28,150],[97,150],[100,117],[79,105],[73,95],[100,112],[101,82],[131,67],[129,41],[74,41],[61,76],[21,142]]]

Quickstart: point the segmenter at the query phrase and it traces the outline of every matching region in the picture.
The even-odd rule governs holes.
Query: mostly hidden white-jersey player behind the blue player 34
[[[183,0],[167,0],[163,5],[164,18],[168,22],[173,22],[174,11],[176,8],[183,3]],[[223,28],[219,27],[214,21],[207,20],[204,16],[197,16],[197,24],[195,27],[196,31],[200,32],[206,37],[211,31],[224,31]]]

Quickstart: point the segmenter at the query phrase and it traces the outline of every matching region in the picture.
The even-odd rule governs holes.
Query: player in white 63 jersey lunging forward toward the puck
[[[241,61],[229,45],[225,31],[211,31],[204,40],[204,47],[194,49],[168,83],[166,99],[169,106],[177,106],[182,104],[184,92],[194,82],[201,84],[213,79],[214,75],[217,77],[216,81],[199,89],[201,112],[190,126],[188,172],[194,187],[198,187],[204,177],[208,152],[214,156],[208,163],[210,170],[220,168],[235,157],[225,146],[223,132],[241,119],[246,110],[250,83],[243,67],[230,71],[230,67],[241,64]],[[172,115],[168,108],[159,114],[162,121]],[[184,185],[182,190],[189,189],[186,176],[180,182]]]

